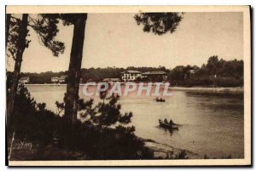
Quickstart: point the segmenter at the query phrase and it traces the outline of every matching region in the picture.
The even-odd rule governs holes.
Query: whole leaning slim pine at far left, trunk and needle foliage
[[[52,18],[51,14],[38,14],[38,17],[32,18],[30,14],[22,14],[22,19],[16,17],[15,14],[9,14],[6,26],[6,48],[7,55],[12,56],[15,60],[15,70],[13,77],[9,77],[9,96],[7,100],[7,127],[9,127],[10,117],[13,113],[15,94],[17,93],[18,82],[20,78],[20,68],[23,60],[23,53],[30,43],[28,26],[38,33],[39,42],[49,48],[52,53],[57,56],[64,51],[64,43],[55,41],[58,32],[58,20]]]

